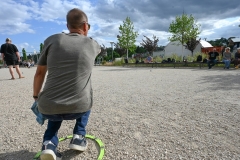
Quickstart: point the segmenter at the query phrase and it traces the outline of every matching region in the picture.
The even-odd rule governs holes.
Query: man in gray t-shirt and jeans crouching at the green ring
[[[93,105],[91,74],[100,45],[87,37],[90,24],[87,15],[72,9],[67,13],[69,34],[48,37],[38,61],[33,82],[33,98],[38,110],[48,119],[43,136],[41,160],[61,159],[57,152],[57,133],[63,120],[74,120],[70,149],[87,149],[86,125]],[[45,74],[46,83],[40,92]]]

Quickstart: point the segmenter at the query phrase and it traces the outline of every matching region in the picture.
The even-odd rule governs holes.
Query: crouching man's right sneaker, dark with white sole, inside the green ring
[[[78,150],[78,151],[85,151],[87,149],[87,140],[84,136],[74,134],[73,138],[69,144],[70,149]]]

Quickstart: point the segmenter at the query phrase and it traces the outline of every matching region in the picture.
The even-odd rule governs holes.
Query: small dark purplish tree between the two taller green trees
[[[140,43],[148,52],[149,54],[152,55],[153,51],[156,50],[157,48],[157,43],[159,41],[159,39],[153,35],[153,40],[151,40],[150,38],[148,38],[147,36],[144,36],[146,38],[146,40],[142,40],[143,42]]]

